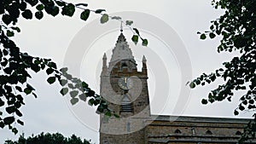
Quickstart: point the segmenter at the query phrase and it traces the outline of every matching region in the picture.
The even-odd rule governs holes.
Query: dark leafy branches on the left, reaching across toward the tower
[[[67,72],[67,68],[58,69],[53,60],[35,57],[22,52],[12,40],[15,32],[20,32],[17,26],[21,17],[32,20],[44,18],[44,14],[52,16],[64,15],[73,16],[75,11],[80,10],[80,19],[88,20],[91,13],[102,15],[101,22],[108,20],[118,20],[121,24],[130,27],[135,36],[142,39],[143,45],[147,45],[147,39],[139,35],[136,28],[131,28],[131,20],[121,20],[119,16],[109,16],[105,9],[88,9],[87,3],[66,3],[62,0],[2,0],[0,1],[0,127],[9,127],[17,134],[18,130],[14,127],[16,123],[23,125],[20,120],[22,112],[20,107],[25,105],[24,95],[34,95],[35,89],[27,80],[32,78],[31,72],[46,72],[49,75],[47,82],[61,84],[61,95],[70,95],[70,102],[74,105],[81,101],[88,101],[90,106],[97,106],[97,112],[104,112],[108,116],[112,115],[112,110],[108,109],[108,104],[100,95],[89,88],[88,84],[79,78],[73,78]],[[137,39],[132,39],[137,43]],[[110,114],[109,114],[110,113]]]

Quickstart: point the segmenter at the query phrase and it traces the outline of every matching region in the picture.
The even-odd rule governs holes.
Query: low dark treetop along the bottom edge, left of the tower
[[[7,140],[4,144],[90,144],[90,141],[81,140],[76,135],[64,137],[59,133],[49,134],[41,133],[40,135],[32,135],[25,138],[24,134],[20,135],[18,141]]]

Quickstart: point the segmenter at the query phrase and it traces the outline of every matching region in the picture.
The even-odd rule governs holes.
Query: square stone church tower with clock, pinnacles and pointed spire
[[[108,65],[107,56],[103,55],[101,95],[120,118],[101,115],[101,144],[146,143],[144,128],[150,107],[145,56],[142,62],[142,70],[137,71],[137,61],[122,31]]]

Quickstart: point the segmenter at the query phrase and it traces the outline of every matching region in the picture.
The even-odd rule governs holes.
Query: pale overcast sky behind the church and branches
[[[73,1],[74,3],[77,1]],[[142,20],[136,21],[137,15],[134,12],[142,12],[152,15],[159,20],[159,24],[165,22],[166,25],[172,28],[173,35],[183,42],[183,48],[187,51],[189,57],[178,57],[179,60],[189,59],[192,66],[192,77],[195,78],[201,72],[212,72],[225,60],[230,60],[232,55],[218,54],[216,47],[218,40],[201,41],[196,34],[198,31],[207,30],[210,26],[210,20],[214,20],[221,14],[220,11],[212,9],[210,0],[162,0],[162,1],[136,1],[136,0],[112,0],[87,1],[91,9],[107,9],[108,14],[119,13],[127,14],[125,11],[132,11],[129,20],[135,20],[137,26]],[[56,61],[62,66],[64,63],[79,66],[79,70],[73,69],[77,76],[83,78],[90,84],[93,89],[99,92],[99,74],[101,72],[101,60],[104,52],[107,52],[108,60],[110,59],[111,49],[119,36],[119,23],[110,22],[107,25],[95,26],[95,29],[88,30],[88,27],[94,22],[98,15],[91,15],[87,22],[79,20],[77,13],[73,18],[63,18],[57,16],[55,19],[46,16],[44,20],[20,20],[21,33],[16,35],[15,40],[23,51],[27,51],[31,55],[48,57]],[[154,21],[143,20],[145,26],[138,27],[142,30],[142,35],[148,38],[148,48],[139,48],[131,43],[131,32],[125,30],[125,37],[129,42],[133,55],[139,64],[142,55],[145,55],[148,60],[149,70],[149,91],[151,101],[151,111],[154,114],[175,114],[183,116],[204,116],[204,117],[228,117],[228,118],[245,118],[250,117],[250,113],[241,113],[239,117],[233,116],[233,111],[237,106],[238,101],[234,99],[232,103],[227,101],[214,103],[212,105],[202,106],[201,98],[207,97],[207,91],[216,87],[216,84],[197,88],[191,91],[188,104],[183,104],[183,109],[180,112],[173,112],[176,107],[177,99],[179,99],[180,90],[187,89],[181,82],[182,74],[177,55],[175,55],[175,43],[172,38],[171,45],[166,46],[160,41],[163,37],[157,37],[157,34],[150,33],[147,29],[152,27]],[[158,21],[157,21],[158,22]],[[115,28],[109,28],[111,25]],[[155,28],[163,28],[154,23]],[[147,27],[147,28],[146,28]],[[97,35],[94,31],[101,32]],[[109,30],[109,31],[107,31]],[[87,31],[92,31],[88,32]],[[153,30],[152,30],[153,31]],[[168,33],[168,32],[166,32]],[[81,37],[83,36],[83,37]],[[89,40],[88,36],[96,37]],[[75,42],[78,45],[73,45]],[[82,45],[83,44],[83,45]],[[85,47],[85,45],[89,47]],[[82,47],[81,47],[82,45]],[[79,51],[73,54],[69,52],[73,50],[73,46],[83,47],[83,55],[80,61],[76,55],[80,55]],[[75,47],[74,49],[77,49]],[[180,48],[180,49],[183,49]],[[171,49],[171,52],[166,52],[166,49]],[[184,55],[186,56],[186,55]],[[68,59],[67,59],[68,58]],[[72,59],[73,58],[73,59]],[[66,62],[65,62],[66,61]],[[68,61],[68,62],[67,62]],[[159,65],[161,63],[161,65]],[[161,66],[161,67],[157,67]],[[159,77],[164,73],[169,78]],[[38,135],[41,132],[60,132],[63,135],[69,136],[72,134],[79,135],[83,138],[91,139],[98,143],[98,115],[92,107],[87,104],[79,103],[78,106],[70,107],[67,99],[62,98],[59,94],[60,87],[58,84],[49,86],[46,83],[46,75],[41,72],[34,75],[31,80],[33,86],[37,89],[38,99],[32,95],[26,96],[26,106],[22,107],[25,126],[18,126],[20,133],[25,135]],[[186,81],[188,81],[187,79]],[[156,82],[157,81],[157,82]],[[217,83],[218,84],[218,83]],[[160,89],[164,93],[157,93],[156,89]],[[166,91],[165,91],[166,90]],[[177,96],[178,95],[178,96]],[[154,99],[155,98],[155,99]],[[164,105],[163,105],[164,102]],[[163,106],[163,107],[160,107]],[[0,130],[0,143],[6,139],[15,139],[9,130]]]

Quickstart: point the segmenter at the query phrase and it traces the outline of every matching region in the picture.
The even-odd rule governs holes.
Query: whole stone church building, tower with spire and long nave
[[[137,70],[122,32],[108,65],[103,56],[101,95],[120,118],[101,115],[101,144],[237,143],[249,119],[151,115],[144,56],[142,62],[142,70]]]

